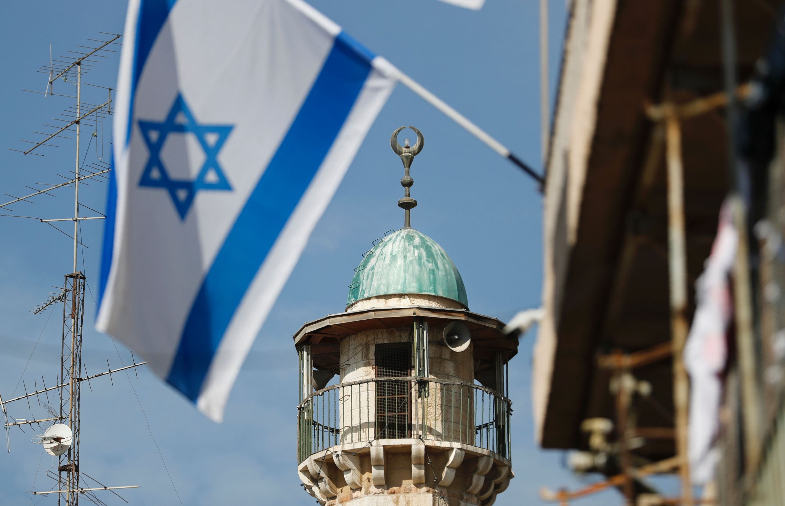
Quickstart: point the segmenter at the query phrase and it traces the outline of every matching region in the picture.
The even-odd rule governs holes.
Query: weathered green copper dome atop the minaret
[[[438,295],[469,308],[455,264],[436,241],[414,228],[388,235],[367,253],[355,270],[346,305],[393,293]]]

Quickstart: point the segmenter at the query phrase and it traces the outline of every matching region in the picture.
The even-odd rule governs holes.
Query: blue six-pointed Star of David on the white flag
[[[169,114],[162,122],[139,120],[138,123],[144,144],[147,144],[150,151],[150,158],[144,166],[139,186],[163,188],[168,191],[181,220],[185,219],[196,193],[200,190],[232,191],[218,163],[217,155],[234,126],[197,123],[180,93],[177,94]],[[205,160],[194,180],[172,179],[167,173],[161,159],[161,149],[166,142],[166,136],[170,133],[192,133],[199,140]]]

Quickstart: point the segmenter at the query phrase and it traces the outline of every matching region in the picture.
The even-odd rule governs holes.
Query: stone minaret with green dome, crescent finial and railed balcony
[[[300,356],[298,473],[320,504],[491,506],[513,478],[507,363],[517,339],[469,311],[450,257],[411,228],[374,241],[349,286],[345,312],[305,323]],[[338,383],[330,380],[338,375]],[[477,384],[479,383],[479,384]]]

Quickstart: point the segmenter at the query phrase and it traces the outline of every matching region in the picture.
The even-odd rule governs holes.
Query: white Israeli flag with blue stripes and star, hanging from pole
[[[97,329],[220,421],[400,73],[301,0],[131,0]]]

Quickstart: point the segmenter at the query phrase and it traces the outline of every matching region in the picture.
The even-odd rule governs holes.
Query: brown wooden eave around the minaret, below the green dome
[[[453,320],[466,325],[472,335],[475,370],[494,364],[495,351],[503,351],[508,360],[518,352],[517,337],[506,335],[504,323],[498,319],[465,309],[429,306],[369,308],[327,315],[303,324],[294,334],[294,346],[300,349],[311,344],[313,366],[337,371],[342,339],[365,330],[409,328],[414,317],[422,318],[432,326],[445,326]]]

